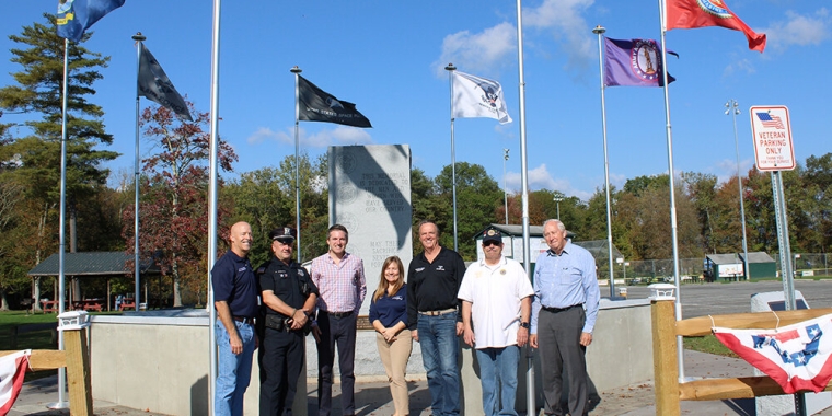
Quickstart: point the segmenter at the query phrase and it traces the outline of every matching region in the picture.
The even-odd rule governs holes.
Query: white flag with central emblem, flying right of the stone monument
[[[453,71],[453,118],[488,117],[511,123],[497,81]]]

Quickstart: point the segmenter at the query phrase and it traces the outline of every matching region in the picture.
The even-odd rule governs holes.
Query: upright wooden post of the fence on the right
[[[656,414],[679,416],[679,362],[673,300],[650,302]]]

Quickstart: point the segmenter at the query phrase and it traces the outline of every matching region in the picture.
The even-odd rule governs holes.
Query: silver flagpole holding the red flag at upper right
[[[675,181],[673,178],[673,135],[670,124],[670,94],[668,93],[668,48],[665,45],[665,32],[667,32],[667,4],[659,0],[659,21],[661,24],[661,77],[665,81],[665,120],[668,140],[668,177],[670,178],[670,231],[673,239],[673,280],[675,282],[675,319],[682,320],[682,292],[679,278],[679,235],[677,230],[675,209]],[[684,344],[681,336],[677,336],[677,365],[679,367],[679,382],[684,382]]]

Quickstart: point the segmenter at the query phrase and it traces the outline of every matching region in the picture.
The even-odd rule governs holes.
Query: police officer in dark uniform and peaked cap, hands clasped
[[[292,414],[303,366],[303,337],[317,300],[317,288],[309,273],[292,262],[294,235],[297,231],[289,227],[271,230],[274,255],[257,268],[265,310],[259,356],[262,416]]]

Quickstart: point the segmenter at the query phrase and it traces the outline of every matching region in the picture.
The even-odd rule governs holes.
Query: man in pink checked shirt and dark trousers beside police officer
[[[330,227],[326,244],[330,251],[312,261],[312,281],[321,296],[317,298],[317,414],[332,412],[333,362],[338,346],[340,369],[342,415],[356,414],[353,372],[356,357],[356,321],[367,294],[363,261],[347,253],[349,234],[346,227]]]

